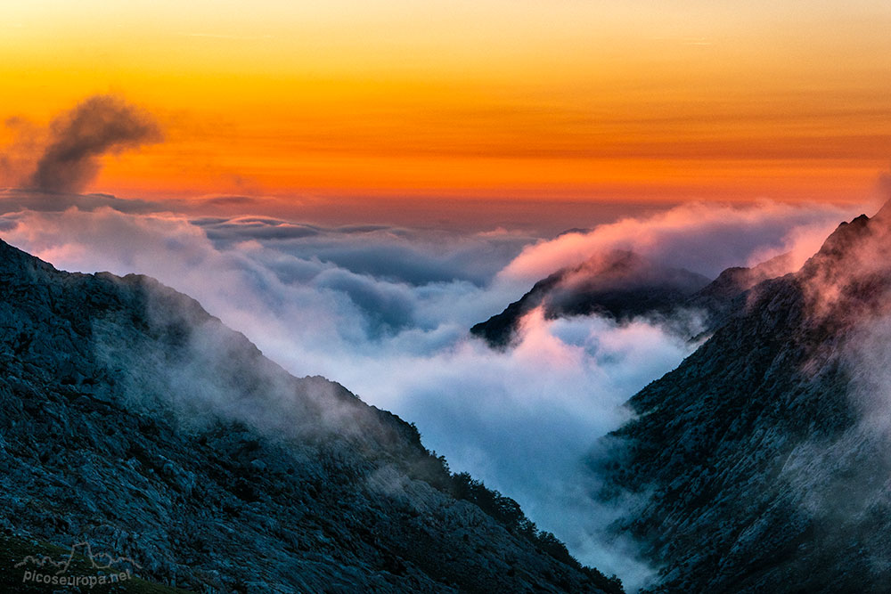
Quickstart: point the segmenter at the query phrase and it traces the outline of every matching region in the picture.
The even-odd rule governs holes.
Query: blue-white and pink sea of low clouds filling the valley
[[[503,352],[468,328],[601,247],[714,275],[840,218],[830,208],[694,206],[543,241],[122,212],[110,200],[61,212],[18,205],[0,216],[0,235],[63,269],[145,273],[197,298],[295,375],[324,375],[415,422],[455,470],[519,500],[582,561],[632,585],[649,569],[631,545],[603,540],[614,514],[593,507],[596,484],[580,461],[627,418],[622,403],[693,346],[646,321],[545,320],[540,310]],[[723,248],[707,248],[715,240]]]

